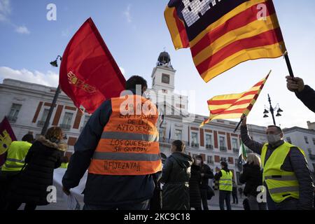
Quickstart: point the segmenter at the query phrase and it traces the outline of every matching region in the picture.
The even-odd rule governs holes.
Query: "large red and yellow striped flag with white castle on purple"
[[[174,47],[190,47],[205,82],[241,62],[286,52],[272,0],[171,0],[165,20]]]

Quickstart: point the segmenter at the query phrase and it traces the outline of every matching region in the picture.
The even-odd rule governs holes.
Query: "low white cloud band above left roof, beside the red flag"
[[[42,73],[40,71],[29,71],[27,69],[15,70],[6,66],[0,66],[0,79],[11,78],[22,80],[29,83],[37,83],[57,87],[59,83],[59,75],[53,71]]]

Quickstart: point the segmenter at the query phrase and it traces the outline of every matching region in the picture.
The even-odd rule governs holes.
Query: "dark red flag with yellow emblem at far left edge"
[[[0,166],[6,161],[6,151],[8,151],[11,142],[16,140],[8,118],[4,117],[0,123]]]

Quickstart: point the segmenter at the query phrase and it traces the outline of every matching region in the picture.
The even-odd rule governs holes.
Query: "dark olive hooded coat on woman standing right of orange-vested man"
[[[167,158],[162,170],[162,209],[189,210],[189,179],[193,158],[175,152]]]

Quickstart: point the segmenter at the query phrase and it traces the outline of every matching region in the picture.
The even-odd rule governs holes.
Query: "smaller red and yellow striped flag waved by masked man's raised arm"
[[[269,71],[265,78],[246,92],[226,94],[209,99],[208,108],[210,116],[209,119],[204,120],[200,127],[215,119],[241,118],[243,114],[247,116],[258,99],[270,73],[271,71]]]

